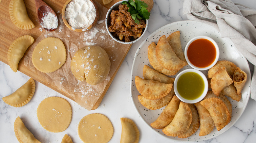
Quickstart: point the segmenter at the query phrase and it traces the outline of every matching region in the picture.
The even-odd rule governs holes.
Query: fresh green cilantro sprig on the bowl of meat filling
[[[135,23],[140,24],[139,19],[149,19],[150,12],[148,12],[148,5],[145,2],[140,0],[128,0],[123,1],[122,4],[127,5],[129,8],[128,12],[130,12],[132,19],[134,19]]]

